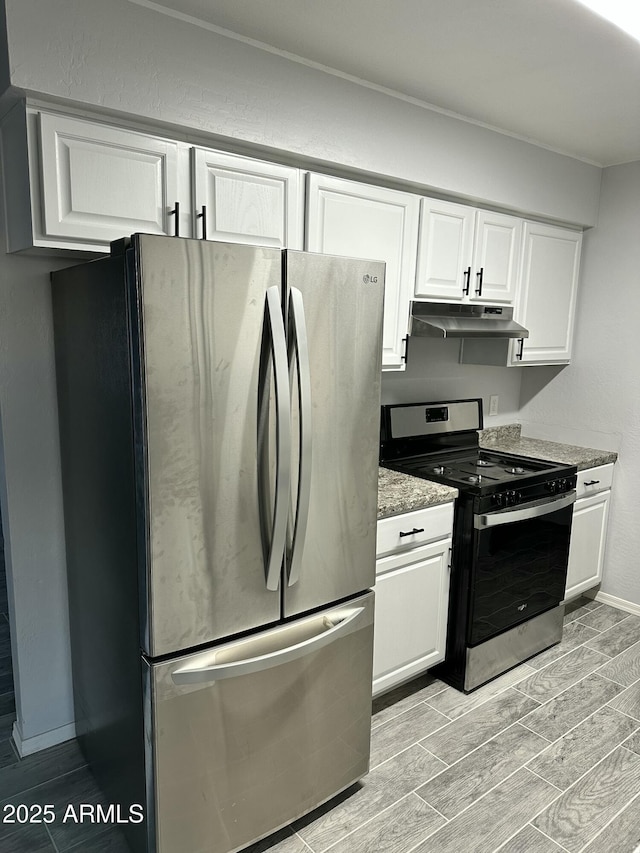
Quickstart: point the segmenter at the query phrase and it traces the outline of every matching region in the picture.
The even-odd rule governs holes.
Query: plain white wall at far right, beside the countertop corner
[[[585,235],[573,362],[526,372],[524,431],[574,431],[619,448],[602,591],[640,604],[640,162],[605,169],[598,228]],[[566,434],[566,433],[565,433]]]

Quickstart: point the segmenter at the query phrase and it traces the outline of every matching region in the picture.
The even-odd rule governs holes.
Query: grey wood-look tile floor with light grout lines
[[[74,742],[18,761],[7,803],[101,802]],[[246,853],[633,853],[640,845],[640,617],[580,600],[562,643],[465,696],[425,676],[377,700],[371,772]],[[2,853],[126,853],[99,825],[0,823]]]

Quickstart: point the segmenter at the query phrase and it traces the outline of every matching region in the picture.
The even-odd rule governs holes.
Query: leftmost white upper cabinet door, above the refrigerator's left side
[[[173,234],[176,202],[188,212],[188,183],[178,185],[180,143],[48,113],[39,129],[36,245],[108,251],[112,240],[136,231]]]

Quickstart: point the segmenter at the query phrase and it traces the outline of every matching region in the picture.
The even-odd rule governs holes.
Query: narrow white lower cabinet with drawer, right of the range
[[[565,600],[575,598],[602,580],[612,476],[613,465],[589,468],[578,474]]]

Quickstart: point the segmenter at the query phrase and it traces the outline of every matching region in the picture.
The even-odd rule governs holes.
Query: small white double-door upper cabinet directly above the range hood
[[[416,297],[512,303],[521,236],[515,216],[423,198]]]

